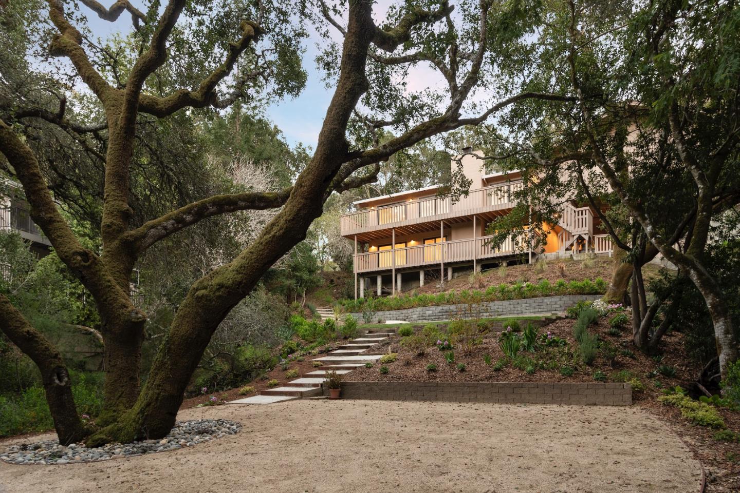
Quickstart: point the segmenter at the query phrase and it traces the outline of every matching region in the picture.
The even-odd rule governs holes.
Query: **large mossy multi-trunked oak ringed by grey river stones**
[[[22,183],[33,220],[90,291],[101,317],[105,404],[98,419],[101,429],[88,436],[58,352],[7,297],[0,296],[0,328],[41,370],[62,443],[87,437],[87,443],[95,446],[128,442],[145,432],[149,438],[166,435],[215,330],[263,274],[306,237],[329,195],[371,183],[380,171],[379,163],[429,137],[481,123],[529,98],[563,99],[550,92],[519,92],[517,84],[496,85],[497,72],[508,69],[497,62],[500,56],[531,32],[527,10],[516,3],[463,2],[453,18],[454,7],[446,1],[403,2],[388,9],[381,25],[373,20],[373,4],[359,0],[332,6],[170,0],[164,9],[152,2],[145,13],[125,0],[110,10],[96,2],[85,3],[102,18],[116,18],[128,10],[138,27],[117,47],[113,62],[99,64],[98,59],[108,57],[110,50],[89,44],[65,5],[48,0],[54,27],[50,55],[70,61],[75,81],[90,89],[91,116],[75,114],[64,100],[53,112],[25,111],[24,101],[18,100],[19,109],[0,123],[7,171]],[[346,13],[346,26],[334,18],[337,13]],[[237,18],[243,19],[238,26]],[[147,147],[147,140],[138,134],[141,119],[156,121],[158,129],[170,118],[189,112],[207,113],[238,100],[294,95],[305,81],[300,67],[304,34],[300,21],[305,18],[314,24],[328,22],[327,29],[337,30],[343,41],[341,48],[326,43],[321,61],[334,95],[317,147],[295,183],[280,191],[215,194],[181,207],[173,204],[171,211],[153,219],[140,218],[144,214],[135,211],[131,188],[137,152]],[[405,92],[408,67],[420,63],[438,69],[446,84],[444,95],[428,88],[411,95]],[[491,97],[485,102],[472,100],[474,89],[487,90]],[[360,102],[369,109],[366,115],[360,113]],[[100,252],[75,237],[54,203],[41,166],[51,162],[41,151],[53,147],[53,140],[24,123],[39,119],[65,133],[107,136],[104,153],[98,152],[105,163]],[[375,137],[385,128],[395,137],[381,142]],[[31,141],[42,146],[30,146]],[[84,148],[82,143],[79,146]],[[273,208],[280,210],[246,248],[189,288],[141,387],[147,314],[132,304],[128,293],[137,259],[152,245],[203,220]]]

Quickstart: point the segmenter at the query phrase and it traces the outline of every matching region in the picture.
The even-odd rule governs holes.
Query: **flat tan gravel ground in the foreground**
[[[701,468],[634,407],[303,400],[186,409],[241,421],[189,449],[0,463],[0,492],[686,492]]]

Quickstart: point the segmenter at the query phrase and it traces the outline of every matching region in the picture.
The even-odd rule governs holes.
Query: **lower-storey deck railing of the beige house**
[[[371,251],[354,256],[354,271],[357,273],[410,268],[423,265],[465,262],[473,259],[490,259],[521,253],[526,248],[523,235],[508,237],[502,245],[493,248],[493,237],[457,239],[432,245],[414,245],[395,250]],[[395,259],[394,259],[395,256]]]

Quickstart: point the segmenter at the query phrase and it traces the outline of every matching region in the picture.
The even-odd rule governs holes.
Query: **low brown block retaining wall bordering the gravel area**
[[[387,401],[629,406],[632,387],[581,382],[343,381],[341,396]]]

